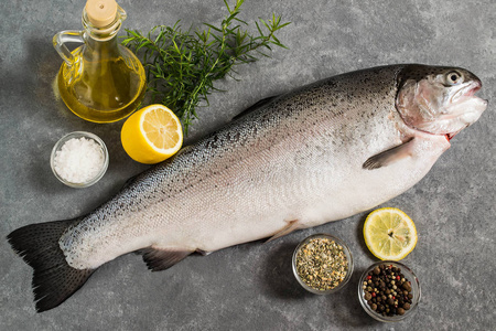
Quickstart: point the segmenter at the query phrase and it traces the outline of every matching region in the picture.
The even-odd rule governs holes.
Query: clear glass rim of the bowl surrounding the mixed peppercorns
[[[386,266],[391,265],[393,267],[401,268],[401,274],[403,274],[405,278],[411,284],[411,293],[413,295],[413,298],[411,299],[410,309],[405,310],[405,314],[382,316],[381,313],[374,311],[370,308],[370,306],[368,306],[367,300],[365,300],[364,298],[365,296],[365,291],[363,289],[364,281],[366,281],[368,273],[374,270],[375,267],[380,265]],[[414,313],[416,308],[420,301],[420,282],[416,274],[413,274],[413,271],[406,265],[393,260],[380,260],[368,267],[362,275],[360,280],[358,281],[358,300],[360,301],[360,305],[364,308],[364,310],[374,319],[380,322],[398,322]]]

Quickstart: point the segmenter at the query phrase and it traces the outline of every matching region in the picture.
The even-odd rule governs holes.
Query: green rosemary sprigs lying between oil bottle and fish
[[[122,44],[141,57],[145,67],[148,92],[152,103],[161,103],[181,119],[184,134],[197,118],[201,102],[208,106],[208,95],[219,90],[214,82],[233,76],[235,65],[257,61],[256,55],[268,56],[271,45],[285,46],[274,33],[290,24],[272,14],[270,20],[255,22],[258,34],[242,30],[247,22],[238,14],[245,0],[236,0],[219,26],[204,23],[204,30],[183,32],[177,21],[173,26],[158,25],[142,35],[136,30],[126,30]]]

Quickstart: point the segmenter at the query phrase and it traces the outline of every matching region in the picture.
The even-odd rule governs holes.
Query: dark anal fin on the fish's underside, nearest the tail
[[[143,256],[143,260],[150,270],[160,271],[172,267],[193,252],[194,250],[159,248],[155,246],[150,246],[140,249],[138,253]]]

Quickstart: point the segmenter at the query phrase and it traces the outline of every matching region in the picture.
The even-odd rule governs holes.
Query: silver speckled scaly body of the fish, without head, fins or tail
[[[384,182],[386,172],[362,164],[408,135],[395,108],[401,68],[317,82],[186,147],[71,227],[60,241],[68,264],[96,268],[149,246],[212,252],[274,235],[288,222],[339,220],[401,193],[418,179],[377,196],[351,181]]]

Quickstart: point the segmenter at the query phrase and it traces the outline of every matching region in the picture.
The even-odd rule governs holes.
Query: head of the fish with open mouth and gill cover
[[[459,67],[408,65],[398,74],[396,108],[411,128],[450,140],[487,107],[473,73]]]

